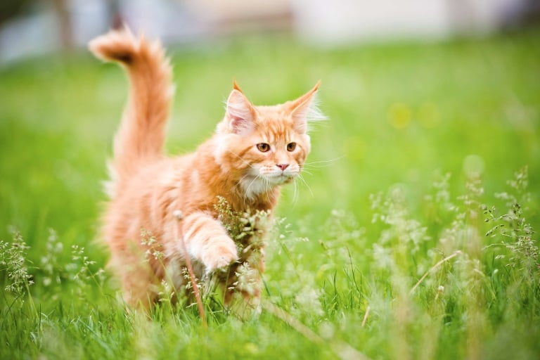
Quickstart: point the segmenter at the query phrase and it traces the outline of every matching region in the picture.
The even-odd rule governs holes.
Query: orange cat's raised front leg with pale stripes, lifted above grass
[[[190,214],[182,222],[188,253],[205,265],[207,273],[238,260],[236,244],[221,222],[204,212]]]

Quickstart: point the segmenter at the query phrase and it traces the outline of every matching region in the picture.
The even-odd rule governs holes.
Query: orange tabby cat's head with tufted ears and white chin
[[[236,179],[248,198],[293,181],[311,149],[307,122],[316,112],[317,83],[294,101],[255,106],[234,82],[214,149],[221,168]]]

